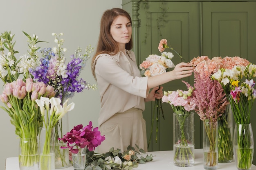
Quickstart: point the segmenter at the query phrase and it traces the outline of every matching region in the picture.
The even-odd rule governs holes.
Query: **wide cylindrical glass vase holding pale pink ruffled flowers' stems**
[[[173,163],[175,166],[194,166],[194,113],[173,113]]]

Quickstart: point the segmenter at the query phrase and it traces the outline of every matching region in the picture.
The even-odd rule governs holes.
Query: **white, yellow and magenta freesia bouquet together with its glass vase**
[[[238,169],[250,169],[254,148],[250,128],[250,113],[256,98],[256,90],[253,88],[256,65],[240,57],[236,57],[232,61],[237,61],[237,64],[230,68],[220,68],[218,72],[212,75],[212,78],[220,82],[225,93],[229,96],[228,99],[236,122],[234,132],[236,166]]]

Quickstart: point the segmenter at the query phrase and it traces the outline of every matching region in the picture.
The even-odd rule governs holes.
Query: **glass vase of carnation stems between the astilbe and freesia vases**
[[[233,160],[233,113],[227,105],[225,113],[218,118],[218,163]]]

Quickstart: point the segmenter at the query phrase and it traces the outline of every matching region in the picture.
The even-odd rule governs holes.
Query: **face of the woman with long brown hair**
[[[110,34],[117,41],[119,48],[125,48],[125,44],[130,41],[132,35],[130,20],[122,15],[117,16],[110,27]]]

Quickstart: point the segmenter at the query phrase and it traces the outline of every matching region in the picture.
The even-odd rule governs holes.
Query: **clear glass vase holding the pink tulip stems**
[[[38,139],[20,138],[19,143],[20,170],[39,170]]]

